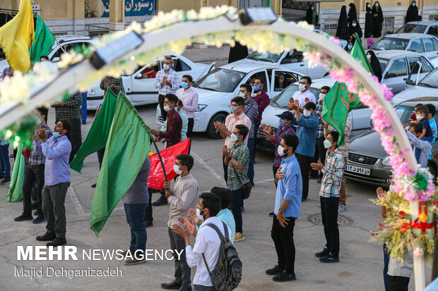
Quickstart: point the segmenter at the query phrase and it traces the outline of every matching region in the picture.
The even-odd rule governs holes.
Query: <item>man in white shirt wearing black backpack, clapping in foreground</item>
[[[173,225],[173,231],[184,238],[186,243],[186,259],[189,267],[196,266],[196,273],[193,278],[194,290],[215,291],[211,283],[208,270],[213,271],[219,259],[220,238],[215,230],[208,226],[209,223],[216,225],[220,232],[225,234],[224,223],[216,217],[220,211],[220,198],[213,193],[203,193],[199,195],[199,204],[196,206],[201,211],[203,223],[196,233],[196,223],[184,220],[185,229],[178,224]],[[226,225],[226,223],[225,223]],[[231,237],[231,230],[227,226],[228,237]],[[196,236],[196,241],[192,249],[190,245],[190,235]],[[224,235],[225,236],[225,235]],[[208,269],[205,261],[208,264]]]

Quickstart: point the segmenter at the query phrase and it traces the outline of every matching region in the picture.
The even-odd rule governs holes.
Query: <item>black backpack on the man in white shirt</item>
[[[213,287],[218,291],[230,291],[235,289],[239,285],[240,280],[242,280],[242,261],[240,261],[239,255],[228,237],[227,225],[223,221],[222,223],[225,237],[223,237],[216,225],[213,223],[207,224],[207,226],[210,226],[218,233],[220,238],[219,259],[213,271],[210,271],[210,268],[208,268],[206,257],[203,254],[202,257],[210,274]]]

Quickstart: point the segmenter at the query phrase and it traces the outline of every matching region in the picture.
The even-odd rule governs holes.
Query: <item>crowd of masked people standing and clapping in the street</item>
[[[351,9],[350,12],[349,17],[353,17],[355,13]],[[371,63],[372,57],[369,58]],[[163,125],[160,130],[150,129],[150,133],[154,135],[155,142],[163,141],[167,148],[191,137],[199,97],[191,88],[194,80],[190,75],[183,76],[179,88],[179,80],[172,69],[172,58],[166,57],[163,63],[162,70],[155,76]],[[242,213],[247,196],[244,192],[254,186],[254,138],[259,129],[275,148],[273,178],[276,198],[270,215],[273,216],[271,237],[277,260],[273,268],[266,270],[266,274],[273,275],[273,280],[278,282],[296,280],[295,220],[300,217],[302,203],[307,201],[309,178],[314,173],[321,183],[319,201],[326,237],[325,246],[314,255],[321,263],[339,261],[338,213],[347,210],[343,171],[348,159],[350,122],[347,120],[343,132],[337,132],[326,123],[322,118],[322,109],[324,98],[331,88],[321,87],[316,100],[309,91],[312,79],[304,76],[299,82],[299,90],[290,98],[288,110],[277,115],[278,124],[261,124],[264,109],[269,104],[264,85],[262,78],[255,78],[252,84],[241,85],[239,96],[230,100],[231,113],[225,118],[225,123],[214,125],[224,140],[220,154],[226,188],[213,187],[210,192],[199,194],[198,182],[190,173],[194,159],[189,153],[180,154],[175,157],[173,171],[177,178],[173,186],[171,182],[165,182],[160,197],[151,202],[153,190],[148,188],[150,161],[146,158],[122,199],[131,230],[124,264],[129,266],[146,261],[138,254],[144,254],[146,250],[146,228],[153,225],[152,206],[170,204],[167,222],[169,245],[182,254],[174,255],[174,280],[162,283],[162,288],[192,290],[193,284],[194,290],[215,290],[211,272],[208,271],[217,263],[221,246],[215,232],[220,231],[232,243],[245,239]],[[100,87],[105,94],[108,87],[116,94],[124,92],[121,78],[105,77]],[[69,162],[82,142],[81,104],[79,92],[54,104],[56,123],[53,130],[47,125],[48,109],[35,110],[38,122],[31,134],[33,147],[29,158],[25,159],[23,213],[15,221],[46,221],[46,232],[37,236],[36,240],[47,242],[47,246],[66,244],[64,202],[71,183]],[[99,109],[100,106],[96,115],[100,113]],[[418,104],[410,125],[405,125],[422,167],[427,165],[431,144],[437,137],[434,114],[432,104]],[[341,146],[338,144],[340,134],[344,137]],[[3,136],[0,136],[0,149],[0,175],[4,177],[1,184],[7,185],[10,182],[10,166],[8,144]],[[105,148],[97,151],[100,164],[104,153]],[[32,209],[36,210],[33,213],[35,219]],[[196,237],[194,247],[191,247],[190,235]],[[197,266],[196,275],[191,282],[191,268],[194,266]]]

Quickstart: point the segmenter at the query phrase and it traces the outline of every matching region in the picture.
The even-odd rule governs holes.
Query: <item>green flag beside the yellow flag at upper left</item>
[[[37,27],[35,27],[35,40],[32,42],[32,49],[29,55],[32,56],[30,60],[32,63],[40,61],[41,56],[47,56],[50,49],[52,49],[55,42],[55,37],[50,32],[44,21],[37,15]]]

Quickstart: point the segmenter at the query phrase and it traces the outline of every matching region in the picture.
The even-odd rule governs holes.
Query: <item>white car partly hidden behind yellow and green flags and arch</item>
[[[93,39],[90,37],[81,37],[76,35],[62,35],[56,37],[57,41],[55,42],[52,49],[50,49],[49,57],[50,61],[57,62],[61,60],[61,54],[64,53],[62,49],[65,51],[70,51],[71,49],[78,49],[79,47],[88,47],[91,43],[93,43]],[[61,45],[61,46],[60,46]],[[62,47],[62,49],[61,49]],[[0,78],[3,79],[3,70],[7,68],[9,63],[6,59],[0,61]]]

